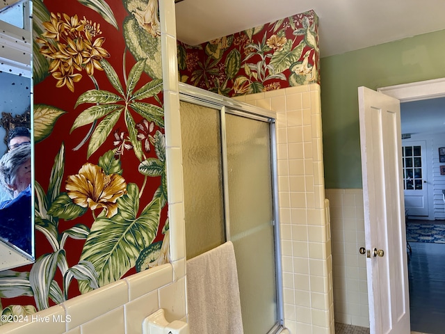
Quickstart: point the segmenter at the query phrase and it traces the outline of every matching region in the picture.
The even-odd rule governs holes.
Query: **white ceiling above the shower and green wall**
[[[197,45],[314,10],[321,57],[445,29],[444,0],[182,0],[177,38]]]

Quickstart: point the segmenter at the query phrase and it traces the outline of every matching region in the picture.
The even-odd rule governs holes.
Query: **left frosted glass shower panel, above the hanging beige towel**
[[[225,242],[220,111],[181,102],[188,259]]]

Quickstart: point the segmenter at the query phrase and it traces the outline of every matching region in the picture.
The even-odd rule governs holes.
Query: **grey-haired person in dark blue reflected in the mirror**
[[[0,159],[0,184],[11,200],[0,202],[0,237],[31,252],[31,145],[19,145]]]

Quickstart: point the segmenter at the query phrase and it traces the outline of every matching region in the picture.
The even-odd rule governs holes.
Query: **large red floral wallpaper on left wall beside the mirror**
[[[157,0],[33,0],[36,261],[2,315],[169,261],[160,34]]]

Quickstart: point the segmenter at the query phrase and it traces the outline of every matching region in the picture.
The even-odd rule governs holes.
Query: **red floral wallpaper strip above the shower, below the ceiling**
[[[234,97],[320,83],[313,10],[190,46],[178,42],[179,81]]]

